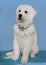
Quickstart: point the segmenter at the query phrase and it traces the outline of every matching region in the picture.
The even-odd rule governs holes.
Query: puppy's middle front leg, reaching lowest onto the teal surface
[[[29,54],[30,54],[30,45],[26,45],[24,50],[23,50],[23,56],[22,56],[22,60],[21,60],[22,64],[27,63]]]

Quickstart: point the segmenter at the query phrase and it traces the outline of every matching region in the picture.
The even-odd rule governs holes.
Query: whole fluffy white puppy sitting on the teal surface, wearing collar
[[[16,10],[16,24],[13,27],[13,52],[7,54],[8,58],[17,60],[22,54],[21,63],[27,63],[28,57],[34,58],[39,52],[37,35],[33,24],[36,11],[29,5],[20,5]],[[21,52],[21,53],[20,53]]]

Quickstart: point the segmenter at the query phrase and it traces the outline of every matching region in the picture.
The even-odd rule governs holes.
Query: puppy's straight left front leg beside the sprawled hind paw
[[[14,54],[12,56],[12,59],[17,60],[20,55],[20,49],[19,49],[19,45],[15,37],[14,37],[14,42],[13,42],[13,52]]]

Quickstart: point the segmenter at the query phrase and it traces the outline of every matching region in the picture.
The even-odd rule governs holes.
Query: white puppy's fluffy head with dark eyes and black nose
[[[32,23],[36,11],[29,5],[20,5],[16,10],[16,21],[18,25],[28,25]]]

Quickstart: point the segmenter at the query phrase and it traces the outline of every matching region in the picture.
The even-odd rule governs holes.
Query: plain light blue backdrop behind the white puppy
[[[46,50],[46,0],[0,0],[0,51],[11,50],[15,11],[20,4],[29,4],[37,11],[34,19],[40,50]]]

